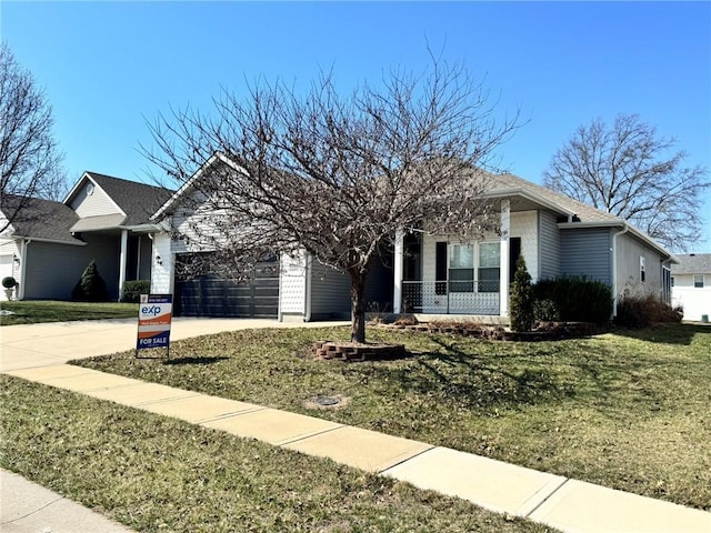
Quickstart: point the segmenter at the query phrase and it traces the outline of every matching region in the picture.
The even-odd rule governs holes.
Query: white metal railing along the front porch
[[[499,314],[498,281],[403,281],[402,311]]]

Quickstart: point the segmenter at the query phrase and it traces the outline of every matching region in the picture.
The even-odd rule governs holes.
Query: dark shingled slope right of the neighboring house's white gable
[[[138,225],[148,222],[150,217],[173,194],[173,191],[169,189],[98,172],[87,171],[86,174],[103,189],[127,214],[121,225]]]

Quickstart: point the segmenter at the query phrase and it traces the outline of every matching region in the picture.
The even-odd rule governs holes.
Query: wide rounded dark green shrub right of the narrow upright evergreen
[[[541,280],[532,290],[535,301],[553,303],[563,322],[604,324],[612,315],[612,290],[600,281],[580,276]]]

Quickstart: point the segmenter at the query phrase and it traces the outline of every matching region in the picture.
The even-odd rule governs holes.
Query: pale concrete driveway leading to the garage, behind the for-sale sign
[[[348,322],[278,322],[266,319],[189,319],[172,321],[170,339],[257,328],[319,328]],[[0,372],[61,364],[136,348],[138,319],[48,322],[0,328]]]

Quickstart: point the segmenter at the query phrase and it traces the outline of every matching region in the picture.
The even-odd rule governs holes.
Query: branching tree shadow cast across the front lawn
[[[441,350],[421,351],[407,365],[375,364],[371,372],[403,391],[484,413],[571,401],[621,420],[630,402],[650,412],[663,402],[659,390],[644,382],[644,361],[620,361],[604,346],[587,345],[581,352],[553,341],[550,350],[535,343],[537,351],[529,355],[505,349],[477,353],[475,348],[462,350],[437,338],[432,342]],[[562,355],[571,350],[579,351]]]

